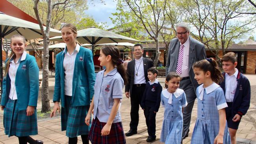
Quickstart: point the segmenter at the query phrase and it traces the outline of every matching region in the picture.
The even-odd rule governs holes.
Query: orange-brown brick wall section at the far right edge
[[[246,74],[255,74],[256,51],[247,51]]]

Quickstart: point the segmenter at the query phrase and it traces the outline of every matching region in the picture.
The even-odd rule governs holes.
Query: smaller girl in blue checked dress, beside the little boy
[[[165,108],[160,142],[179,144],[182,138],[183,107],[187,106],[184,90],[178,89],[182,78],[169,72],[165,79],[165,90],[161,93],[161,104]]]

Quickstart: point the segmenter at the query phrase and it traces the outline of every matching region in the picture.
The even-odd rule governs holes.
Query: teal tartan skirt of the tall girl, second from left
[[[71,100],[72,96],[65,96],[65,108],[61,107],[61,131],[70,138],[88,135],[91,127],[85,124],[85,117],[90,106],[72,107]]]

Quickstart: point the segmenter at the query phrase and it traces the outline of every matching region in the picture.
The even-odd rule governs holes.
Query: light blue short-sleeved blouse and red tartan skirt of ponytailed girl
[[[114,68],[104,76],[105,70],[98,72],[95,82],[94,113],[88,139],[92,144],[126,144],[122,127],[120,107],[111,125],[110,133],[101,136],[102,128],[108,122],[114,99],[122,99],[124,81]]]

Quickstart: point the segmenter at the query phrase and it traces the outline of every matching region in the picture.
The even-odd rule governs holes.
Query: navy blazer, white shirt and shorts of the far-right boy
[[[242,117],[250,107],[250,82],[237,68],[234,75],[228,76],[228,74],[223,73],[223,76],[224,80],[220,85],[224,90],[228,104],[228,108],[226,108],[226,120],[228,127],[238,129],[240,121],[234,122],[232,119],[236,114]]]

